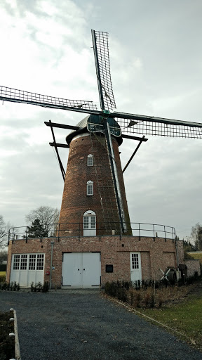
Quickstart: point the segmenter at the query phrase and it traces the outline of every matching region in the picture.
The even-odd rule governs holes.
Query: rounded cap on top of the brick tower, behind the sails
[[[99,128],[99,124],[102,124],[101,120],[102,120],[102,117],[100,115],[87,115],[86,117],[84,117],[83,120],[79,121],[78,124],[76,124],[76,127],[79,127],[79,129],[72,130],[67,135],[66,141],[67,141],[68,145],[71,143],[74,136],[88,132],[89,129],[87,129],[87,125],[89,127],[89,124],[90,125],[95,124],[95,126],[97,125],[96,129],[93,129],[92,132],[99,133],[99,134],[100,134],[100,132],[102,133],[102,130],[100,131],[100,128]],[[120,146],[121,143],[123,142],[123,139],[121,136],[121,129],[120,129],[118,122],[116,122],[116,120],[114,120],[113,117],[109,117],[109,126],[111,129],[111,135],[113,137],[115,137],[116,141],[118,142],[118,144]],[[115,131],[112,131],[112,128],[115,129]]]

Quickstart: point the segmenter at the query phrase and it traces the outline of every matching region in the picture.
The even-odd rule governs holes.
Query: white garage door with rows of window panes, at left
[[[43,284],[44,258],[44,254],[14,254],[10,283],[16,281],[22,288],[30,288],[32,282]]]

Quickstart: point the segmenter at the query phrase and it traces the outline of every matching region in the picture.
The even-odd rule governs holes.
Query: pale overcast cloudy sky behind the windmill
[[[2,0],[0,85],[100,108],[90,30],[105,31],[117,110],[202,122],[201,16],[201,0]],[[23,226],[30,210],[61,205],[44,122],[83,115],[6,101],[0,114],[0,214]],[[55,134],[65,143],[65,130]],[[130,220],[174,226],[184,238],[202,222],[202,140],[147,137],[124,172]],[[124,140],[123,167],[136,146]],[[60,155],[66,167],[68,149]]]

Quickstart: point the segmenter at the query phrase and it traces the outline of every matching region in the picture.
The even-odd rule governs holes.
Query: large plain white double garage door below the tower
[[[67,252],[62,255],[62,286],[99,288],[100,252]]]

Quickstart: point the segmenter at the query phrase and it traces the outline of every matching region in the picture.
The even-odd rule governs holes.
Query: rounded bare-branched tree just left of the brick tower
[[[50,206],[40,206],[35,210],[31,210],[29,214],[25,216],[27,223],[32,224],[36,219],[39,220],[39,224],[43,225],[46,231],[53,229],[55,232],[55,226],[59,221],[59,210]]]

